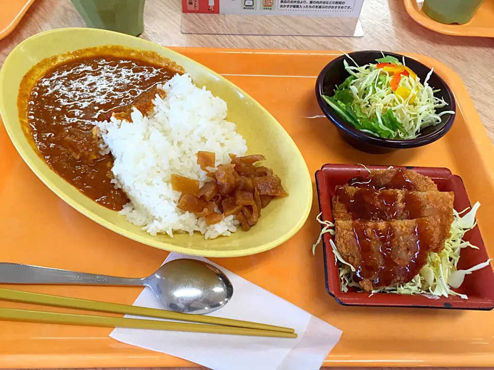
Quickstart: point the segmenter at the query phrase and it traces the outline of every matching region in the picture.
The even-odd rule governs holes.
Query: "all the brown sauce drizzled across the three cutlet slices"
[[[433,231],[429,220],[422,217],[424,204],[414,190],[414,184],[407,174],[399,169],[393,177],[382,183],[378,177],[357,177],[348,181],[348,185],[360,188],[352,197],[344,188],[336,189],[339,201],[351,214],[353,232],[360,249],[361,264],[357,267],[357,280],[370,279],[373,286],[390,286],[396,276],[402,281],[410,281],[425,265],[428,253],[434,247]],[[402,197],[398,192],[388,189],[405,190]],[[401,210],[399,203],[401,202]],[[399,214],[401,213],[401,214]],[[397,217],[399,216],[399,217]],[[395,239],[393,224],[384,223],[384,228],[369,229],[363,220],[416,219],[416,227],[410,237],[415,240],[415,248],[407,265],[400,265],[393,255],[393,246],[399,243]],[[362,219],[362,220],[358,220]],[[372,235],[368,233],[371,232]],[[379,248],[379,253],[374,248]]]

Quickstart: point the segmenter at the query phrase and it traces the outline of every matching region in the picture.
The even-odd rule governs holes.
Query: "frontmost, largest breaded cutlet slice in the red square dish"
[[[355,267],[366,291],[410,282],[430,252],[444,249],[447,233],[440,216],[412,220],[337,220],[336,247]]]

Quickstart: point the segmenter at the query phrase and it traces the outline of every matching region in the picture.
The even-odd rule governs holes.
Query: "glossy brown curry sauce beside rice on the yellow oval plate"
[[[113,159],[99,153],[93,121],[108,119],[113,111],[126,118],[132,106],[145,114],[152,108],[155,86],[176,72],[122,55],[80,57],[51,67],[28,96],[26,120],[34,145],[83,194],[104,207],[122,209],[128,199],[110,182]]]

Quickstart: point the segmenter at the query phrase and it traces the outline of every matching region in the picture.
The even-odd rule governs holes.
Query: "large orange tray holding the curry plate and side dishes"
[[[341,53],[174,50],[221,73],[266,107],[295,140],[312,173],[324,163],[368,163],[447,167],[460,175],[470,200],[482,203],[479,227],[494,256],[494,149],[462,81],[445,65],[410,55],[434,67],[451,86],[458,105],[451,131],[424,147],[372,155],[342,141],[314,96],[317,74]],[[3,125],[0,174],[0,261],[140,277],[165,260],[167,252],[117,235],[66,205],[29,170]],[[321,231],[315,221],[318,213],[314,197],[309,220],[289,242],[262,254],[214,262],[342,329],[325,366],[494,366],[494,311],[343,307],[334,301],[325,289],[322,248],[312,255],[312,243]],[[140,292],[132,287],[24,288],[123,304],[132,304]],[[117,342],[108,337],[110,331],[0,322],[0,367],[191,366]]]

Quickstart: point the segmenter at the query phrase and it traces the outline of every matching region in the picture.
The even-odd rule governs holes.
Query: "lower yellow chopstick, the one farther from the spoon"
[[[189,324],[189,323],[170,322],[170,321],[112,318],[107,316],[80,315],[77,313],[33,311],[33,310],[3,308],[3,307],[0,307],[0,320],[36,322],[36,323],[44,323],[44,324],[203,332],[209,334],[228,334],[228,335],[241,335],[241,336],[251,336],[251,337],[273,337],[273,338],[297,337],[295,333],[240,328],[233,326],[203,325],[203,324]]]

